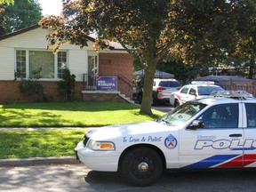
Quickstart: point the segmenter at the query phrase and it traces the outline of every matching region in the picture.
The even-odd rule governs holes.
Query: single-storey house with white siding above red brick
[[[112,43],[110,49],[94,52],[94,39],[88,36],[87,47],[80,49],[76,45],[64,44],[60,52],[53,54],[52,50],[46,49],[47,33],[47,29],[36,25],[0,36],[0,103],[29,101],[20,93],[20,80],[21,77],[28,78],[38,68],[42,68],[39,81],[44,85],[46,97],[60,99],[58,82],[62,69],[69,68],[76,76],[77,99],[124,100],[124,95],[132,99],[133,59],[120,44]],[[116,90],[97,91],[96,78],[99,76],[116,78]],[[124,95],[120,96],[119,92]]]

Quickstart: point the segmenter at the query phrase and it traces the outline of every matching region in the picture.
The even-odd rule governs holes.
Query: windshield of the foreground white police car
[[[157,122],[170,126],[185,124],[192,116],[195,116],[196,113],[205,108],[205,106],[203,103],[188,101],[157,119]]]

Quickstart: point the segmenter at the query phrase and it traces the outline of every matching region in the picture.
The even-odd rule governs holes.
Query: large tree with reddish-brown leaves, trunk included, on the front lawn
[[[47,36],[53,52],[65,43],[86,46],[86,36],[96,32],[95,50],[107,48],[107,40],[116,40],[137,55],[146,69],[140,113],[150,115],[157,61],[169,52],[187,62],[213,60],[236,32],[236,20],[229,13],[237,1],[66,0],[61,16],[40,23],[53,29]]]

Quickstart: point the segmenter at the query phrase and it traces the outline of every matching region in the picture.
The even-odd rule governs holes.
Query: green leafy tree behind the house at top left
[[[5,22],[2,27],[7,33],[35,25],[43,17],[37,0],[14,0],[14,4],[4,4],[3,7]]]

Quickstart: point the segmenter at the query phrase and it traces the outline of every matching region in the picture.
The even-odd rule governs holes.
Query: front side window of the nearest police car
[[[228,103],[212,106],[197,120],[204,123],[204,128],[236,128],[238,127],[238,104]]]

